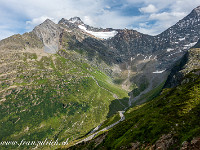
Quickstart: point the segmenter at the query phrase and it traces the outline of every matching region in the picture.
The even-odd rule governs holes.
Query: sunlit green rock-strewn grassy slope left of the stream
[[[97,68],[77,61],[72,52],[65,53],[68,58],[1,54],[0,141],[83,136],[106,120],[116,97],[128,96]],[[121,109],[117,102],[111,115],[118,106]]]

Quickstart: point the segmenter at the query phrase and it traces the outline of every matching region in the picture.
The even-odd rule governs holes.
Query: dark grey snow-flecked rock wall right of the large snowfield
[[[169,68],[186,50],[194,46],[200,35],[200,7],[157,36],[143,35],[132,30],[121,30],[107,41],[121,60],[126,61],[138,53],[157,55],[159,68]]]

